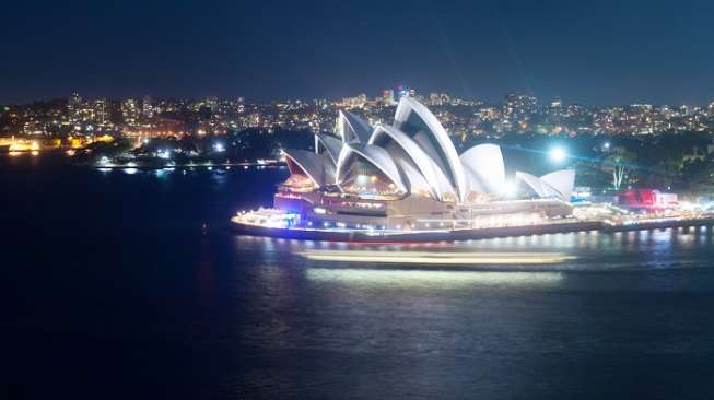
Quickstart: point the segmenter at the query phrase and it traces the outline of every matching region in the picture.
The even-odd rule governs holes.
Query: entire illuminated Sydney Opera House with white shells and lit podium
[[[424,232],[572,213],[573,170],[506,177],[498,145],[476,145],[459,155],[437,118],[411,97],[400,99],[391,125],[373,127],[340,111],[335,136],[316,134],[314,151],[283,152],[290,176],[273,209],[244,221],[297,230]]]

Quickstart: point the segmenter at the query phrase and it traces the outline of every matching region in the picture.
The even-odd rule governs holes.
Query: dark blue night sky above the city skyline
[[[713,1],[13,1],[0,102],[377,95],[714,98]]]

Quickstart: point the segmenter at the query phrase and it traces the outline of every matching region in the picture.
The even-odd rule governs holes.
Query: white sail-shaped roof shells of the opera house
[[[318,188],[331,186],[342,190],[346,173],[360,161],[374,166],[376,169],[371,170],[378,170],[375,174],[384,175],[389,187],[405,196],[465,203],[469,193],[498,197],[505,191],[501,149],[479,144],[459,156],[436,117],[411,97],[399,101],[393,126],[372,128],[354,114],[340,111],[336,134],[339,138],[317,134],[316,153],[284,151]],[[515,178],[538,197],[570,201],[575,173],[564,169],[538,178],[518,172]]]

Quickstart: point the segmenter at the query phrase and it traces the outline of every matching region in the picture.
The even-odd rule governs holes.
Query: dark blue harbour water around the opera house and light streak
[[[553,251],[478,268],[308,260],[241,237],[284,170],[0,160],[5,398],[714,396],[702,230],[356,247]]]

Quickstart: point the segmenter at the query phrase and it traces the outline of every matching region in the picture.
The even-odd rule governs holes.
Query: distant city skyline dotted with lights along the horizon
[[[45,103],[0,107],[0,137],[58,138],[104,134],[164,137],[226,134],[249,128],[333,131],[337,113],[352,109],[371,123],[385,121],[402,97],[435,107],[448,133],[461,138],[508,132],[541,134],[659,134],[712,132],[714,101],[702,105],[631,104],[583,106],[560,98],[539,99],[507,93],[487,104],[448,93],[420,93],[414,89],[383,90],[371,97],[250,103],[237,98],[83,98],[78,92]]]

